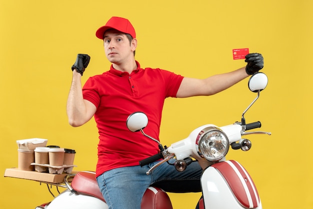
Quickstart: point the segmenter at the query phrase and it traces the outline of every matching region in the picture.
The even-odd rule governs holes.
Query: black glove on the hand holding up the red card
[[[245,62],[247,62],[245,71],[247,74],[254,74],[264,66],[264,59],[260,53],[249,53],[245,55]]]

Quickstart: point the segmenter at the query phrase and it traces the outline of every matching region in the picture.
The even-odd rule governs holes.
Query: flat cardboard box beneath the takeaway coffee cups
[[[4,171],[4,177],[22,178],[36,181],[44,181],[49,183],[62,183],[64,177],[68,173],[64,174],[50,174],[45,172],[19,170],[18,168],[6,168]]]

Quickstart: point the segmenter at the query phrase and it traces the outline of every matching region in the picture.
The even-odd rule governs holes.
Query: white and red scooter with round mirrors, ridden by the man
[[[176,170],[184,171],[194,159],[202,167],[201,187],[202,198],[199,208],[262,208],[261,200],[255,184],[245,168],[235,160],[226,160],[229,148],[247,151],[251,148],[251,141],[242,136],[249,134],[268,134],[264,131],[247,130],[261,127],[259,121],[246,123],[244,114],[259,98],[260,91],[267,85],[267,76],[258,72],[253,74],[248,87],[257,92],[257,96],[243,111],[240,122],[218,127],[205,124],[197,127],[188,137],[179,140],[169,147],[162,146],[155,138],[147,135],[143,128],[148,124],[148,118],[143,112],[134,112],[127,118],[126,125],[130,131],[140,131],[143,135],[158,143],[159,152],[139,162],[141,166],[153,161],[158,162],[146,174],[170,159],[174,159]],[[169,163],[169,162],[168,162]],[[71,179],[71,182],[70,182]],[[51,202],[44,203],[39,208],[101,208],[108,206],[98,188],[95,173],[88,171],[68,174],[64,184],[56,184],[66,188]],[[50,191],[50,189],[49,189]],[[165,191],[150,186],[144,193],[141,209],[172,209],[170,199]]]

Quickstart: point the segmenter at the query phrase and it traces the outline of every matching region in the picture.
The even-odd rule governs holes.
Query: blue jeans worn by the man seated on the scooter
[[[140,209],[141,198],[149,185],[169,192],[201,191],[202,169],[192,162],[179,172],[173,165],[163,163],[151,174],[145,172],[157,162],[143,167],[129,166],[108,170],[97,177],[97,182],[109,209]]]

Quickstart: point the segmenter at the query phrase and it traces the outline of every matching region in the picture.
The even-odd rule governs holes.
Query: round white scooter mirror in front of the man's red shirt
[[[133,112],[128,116],[126,120],[127,128],[132,132],[139,131],[147,124],[148,117],[143,112]]]

